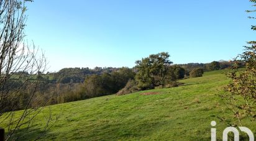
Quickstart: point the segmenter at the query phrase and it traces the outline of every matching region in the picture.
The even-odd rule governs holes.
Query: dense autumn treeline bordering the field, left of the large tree
[[[112,69],[112,68],[111,68]],[[68,68],[67,70],[72,70]],[[76,69],[81,70],[81,69]],[[83,70],[83,69],[82,69]],[[13,101],[13,105],[4,105],[4,107],[0,107],[3,111],[15,111],[20,109],[25,109],[25,107],[39,107],[45,105],[52,104],[60,104],[63,102],[71,102],[78,101],[82,99],[89,99],[98,96],[105,96],[109,94],[117,93],[120,89],[124,88],[126,83],[129,80],[134,79],[135,72],[130,68],[114,68],[114,70],[109,71],[107,73],[103,68],[99,68],[100,71],[96,71],[98,73],[85,76],[85,81],[82,83],[53,83],[53,81],[45,80],[45,75],[40,75],[40,81],[38,82],[36,89],[35,86],[31,86],[30,88],[21,88],[21,84],[23,81],[16,81],[16,78],[12,79],[12,81],[16,81],[17,86],[12,86],[11,89],[19,88],[21,89],[19,93],[19,99],[13,97],[9,97],[8,101]],[[62,71],[63,72],[63,71]],[[70,71],[68,71],[70,72]],[[25,76],[27,74],[24,74]],[[78,76],[79,74],[74,74]],[[65,76],[65,75],[64,75]],[[33,81],[33,77],[31,77],[31,83]],[[22,77],[27,78],[27,77]],[[12,84],[12,83],[11,83]],[[35,84],[34,84],[35,85]],[[7,85],[6,85],[7,86]],[[10,88],[8,88],[10,89]],[[33,98],[30,100],[31,91],[34,92]],[[29,102],[31,101],[31,102]],[[29,105],[27,105],[29,104]]]

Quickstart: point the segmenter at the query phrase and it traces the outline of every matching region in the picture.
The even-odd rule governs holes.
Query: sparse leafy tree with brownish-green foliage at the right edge
[[[250,0],[250,2],[256,6],[255,0]],[[254,17],[249,18],[255,19]],[[252,25],[251,29],[256,30],[256,26]],[[256,121],[256,41],[247,43],[250,46],[245,46],[245,51],[234,59],[235,65],[227,73],[227,77],[232,81],[226,86],[227,93],[222,94],[227,107],[234,112],[240,125],[242,125],[243,117],[250,117]],[[245,68],[238,70],[241,62],[245,63]]]

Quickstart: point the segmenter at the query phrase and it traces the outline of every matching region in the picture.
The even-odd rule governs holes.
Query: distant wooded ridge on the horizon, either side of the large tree
[[[233,61],[213,61],[211,63],[188,63],[188,64],[176,64],[185,69],[185,77],[190,76],[190,72],[195,68],[203,68],[204,71],[211,70],[223,70],[234,65]],[[240,63],[240,66],[244,66],[244,63]],[[88,76],[91,75],[103,75],[104,73],[112,73],[118,71],[120,68],[112,67],[95,67],[90,68],[63,68],[56,73],[47,73],[43,76],[49,83],[83,83]],[[132,68],[134,72],[137,72],[136,66]]]

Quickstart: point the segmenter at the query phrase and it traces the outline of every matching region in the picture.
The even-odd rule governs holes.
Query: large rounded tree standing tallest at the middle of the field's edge
[[[160,85],[164,87],[165,84],[172,81],[169,66],[173,62],[168,60],[169,57],[167,52],[162,52],[135,61],[138,69],[135,79],[138,81],[139,88],[152,89]]]

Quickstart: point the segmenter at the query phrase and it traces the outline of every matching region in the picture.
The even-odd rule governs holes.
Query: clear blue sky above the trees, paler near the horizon
[[[45,51],[50,71],[129,66],[152,53],[174,63],[230,60],[254,39],[249,0],[35,0],[27,39]]]

